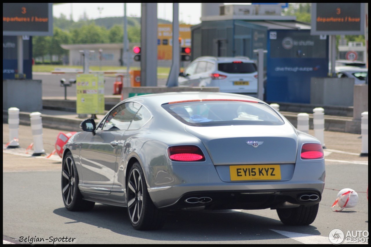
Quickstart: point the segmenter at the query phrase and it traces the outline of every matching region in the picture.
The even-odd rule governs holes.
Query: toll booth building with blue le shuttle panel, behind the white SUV
[[[328,76],[329,37],[311,35],[309,23],[282,16],[279,4],[212,4],[219,6],[219,12],[205,8],[201,23],[191,27],[191,60],[247,56],[257,63],[255,51],[267,50],[265,100],[310,103],[311,78]]]

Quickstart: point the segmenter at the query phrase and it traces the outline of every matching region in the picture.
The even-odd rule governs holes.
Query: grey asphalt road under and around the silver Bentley
[[[47,154],[59,132],[43,128]],[[359,157],[357,134],[325,131],[326,185],[312,225],[285,226],[269,209],[181,211],[171,212],[161,230],[136,231],[125,208],[96,204],[90,212],[67,211],[60,188],[61,160],[26,154],[31,133],[30,126],[21,125],[21,148],[3,150],[3,240],[13,243],[28,238],[29,243],[52,244],[56,238],[58,244],[331,244],[333,228],[345,233],[368,230],[368,157]],[[9,128],[3,123],[3,146],[8,141]],[[334,212],[331,206],[344,188],[358,192],[358,203]]]

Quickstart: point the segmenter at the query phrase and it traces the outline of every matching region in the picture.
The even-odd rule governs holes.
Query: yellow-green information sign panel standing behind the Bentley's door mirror
[[[76,96],[76,113],[104,114],[104,75],[78,74]]]

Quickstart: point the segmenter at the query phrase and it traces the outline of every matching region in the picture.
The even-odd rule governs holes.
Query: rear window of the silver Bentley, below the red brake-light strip
[[[282,118],[268,105],[243,100],[205,99],[163,104],[179,121],[191,126],[282,125]]]

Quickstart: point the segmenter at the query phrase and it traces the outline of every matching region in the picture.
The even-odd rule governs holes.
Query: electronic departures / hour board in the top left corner
[[[3,3],[3,36],[53,36],[52,3]]]

